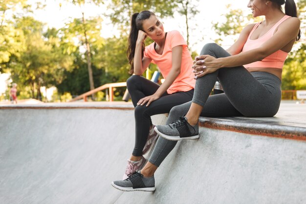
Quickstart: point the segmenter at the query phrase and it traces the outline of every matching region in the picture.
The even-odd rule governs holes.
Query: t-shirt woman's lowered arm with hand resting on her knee
[[[146,106],[149,106],[151,102],[159,99],[167,91],[167,89],[175,81],[176,77],[180,74],[182,53],[182,45],[178,45],[172,48],[172,68],[167,78],[165,79],[165,82],[161,84],[161,86],[156,90],[153,95],[140,99],[137,105],[144,105],[146,102],[148,102]]]

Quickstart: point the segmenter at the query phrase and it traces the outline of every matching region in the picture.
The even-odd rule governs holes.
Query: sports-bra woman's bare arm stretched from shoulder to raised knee
[[[199,56],[193,68],[197,70],[196,78],[205,74],[216,71],[222,67],[235,67],[249,64],[254,61],[261,61],[272,53],[282,49],[290,41],[296,39],[300,29],[300,20],[298,18],[289,18],[285,20],[279,27],[277,32],[268,41],[264,42],[261,47],[249,50],[237,55],[226,58],[214,58],[209,55]],[[204,62],[203,62],[204,61]],[[204,66],[203,66],[204,65]]]

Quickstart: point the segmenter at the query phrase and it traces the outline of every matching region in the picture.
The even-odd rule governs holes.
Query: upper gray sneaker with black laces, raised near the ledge
[[[156,125],[154,130],[167,140],[196,140],[198,139],[198,124],[191,126],[185,116],[168,125]]]

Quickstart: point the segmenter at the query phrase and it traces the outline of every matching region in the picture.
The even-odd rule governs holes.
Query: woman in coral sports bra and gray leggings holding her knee
[[[285,13],[281,7],[284,3]],[[193,100],[173,107],[168,125],[155,126],[161,137],[136,178],[142,186],[138,190],[153,185],[154,172],[175,147],[175,141],[199,137],[199,116],[272,117],[277,113],[284,61],[300,39],[296,5],[294,0],[250,0],[247,6],[253,17],[264,16],[265,20],[247,25],[227,50],[215,43],[203,47],[192,67],[196,79]],[[217,78],[224,93],[210,96]],[[135,189],[139,184],[126,180],[120,185]]]

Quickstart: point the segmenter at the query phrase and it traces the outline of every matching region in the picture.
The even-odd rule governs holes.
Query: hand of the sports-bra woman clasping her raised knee
[[[221,65],[218,59],[210,56],[210,55],[200,55],[196,57],[194,61],[194,65],[192,66],[195,73],[195,79],[199,77],[203,77],[206,74],[217,71],[221,68]]]

